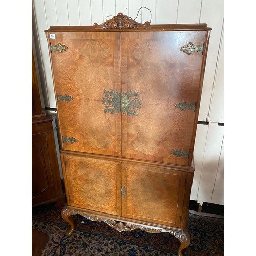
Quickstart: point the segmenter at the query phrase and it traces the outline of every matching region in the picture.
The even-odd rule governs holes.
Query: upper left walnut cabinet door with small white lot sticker
[[[65,150],[121,156],[121,114],[112,95],[120,93],[119,36],[47,33]]]

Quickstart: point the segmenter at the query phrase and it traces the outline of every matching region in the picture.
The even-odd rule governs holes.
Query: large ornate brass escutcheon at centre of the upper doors
[[[141,107],[141,102],[138,100],[139,92],[133,93],[132,91],[120,94],[118,91],[110,89],[109,91],[104,90],[105,97],[102,98],[102,104],[106,105],[104,112],[110,112],[111,114],[119,113],[128,116],[138,116],[137,108]]]

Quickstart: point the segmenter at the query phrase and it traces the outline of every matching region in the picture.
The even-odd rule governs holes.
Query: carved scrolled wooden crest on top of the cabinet
[[[150,22],[138,23],[135,20],[129,18],[127,15],[123,15],[121,12],[114,16],[112,19],[107,20],[102,24],[94,23],[95,29],[138,29],[149,28]]]

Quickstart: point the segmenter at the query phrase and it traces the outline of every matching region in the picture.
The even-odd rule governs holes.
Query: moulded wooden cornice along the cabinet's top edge
[[[197,24],[156,24],[148,25],[140,28],[97,28],[95,26],[50,26],[45,32],[136,32],[136,31],[198,31],[198,30],[212,30],[207,27],[206,23]]]

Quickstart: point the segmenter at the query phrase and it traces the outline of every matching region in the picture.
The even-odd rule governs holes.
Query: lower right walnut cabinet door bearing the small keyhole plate
[[[180,227],[187,173],[122,163],[122,216]]]

